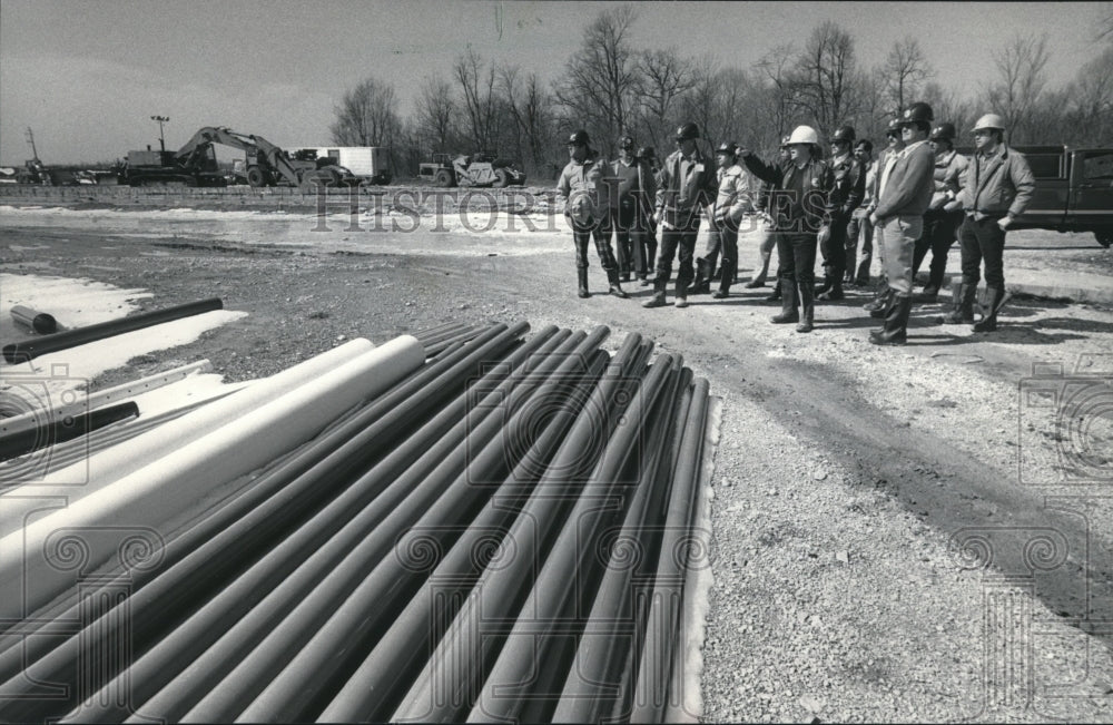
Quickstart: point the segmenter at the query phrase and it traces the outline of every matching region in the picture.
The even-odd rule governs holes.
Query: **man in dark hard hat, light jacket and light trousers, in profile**
[[[935,192],[935,154],[927,145],[933,120],[932,107],[923,101],[905,109],[900,117],[905,147],[883,172],[877,208],[870,215],[890,291],[885,324],[869,333],[875,345],[903,345],[908,335],[913,253]]]

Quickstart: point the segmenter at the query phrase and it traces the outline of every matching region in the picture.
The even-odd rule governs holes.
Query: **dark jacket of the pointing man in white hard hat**
[[[747,151],[742,155],[742,163],[754,176],[769,185],[770,231],[815,234],[830,222],[827,197],[835,188],[835,174],[826,161],[812,158],[798,169],[790,158],[775,166]],[[798,174],[802,177],[797,178]],[[802,195],[794,190],[798,182],[802,182]]]

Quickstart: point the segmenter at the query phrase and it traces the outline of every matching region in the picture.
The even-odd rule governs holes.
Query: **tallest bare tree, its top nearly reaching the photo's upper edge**
[[[597,138],[610,139],[628,128],[637,88],[630,27],[637,19],[631,6],[601,12],[583,32],[580,49],[569,59],[556,100],[577,125]]]

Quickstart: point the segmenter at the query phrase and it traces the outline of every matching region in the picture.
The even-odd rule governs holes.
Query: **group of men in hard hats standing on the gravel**
[[[976,150],[971,159],[955,151],[955,127],[933,126],[934,120],[929,105],[909,106],[889,124],[888,145],[876,163],[871,163],[873,145],[856,139],[849,126],[831,136],[830,160],[823,158],[815,129],[799,126],[782,139],[775,163],[725,143],[716,149],[712,165],[697,145],[698,127],[688,123],[677,129],[677,149],[660,168],[653,149],[636,153],[629,136],[619,141],[619,158],[605,161],[591,149],[587,131],[575,131],[558,192],[568,199],[579,295],[590,295],[587,247],[593,238],[612,295],[629,296],[621,282],[633,273],[643,286],[653,285],[643,306],[664,306],[676,258],[677,307],[687,307],[693,294],[727,297],[738,266],[739,229],[751,216],[761,219],[765,231],[762,265],[746,286],[764,286],[776,245],[777,286],[768,300],[779,300],[781,312],[774,323],[795,323],[798,332],[810,332],[817,300],[837,302],[845,298],[844,284],[868,284],[876,246],[883,284],[866,308],[884,323],[870,333],[870,342],[904,344],[916,272],[930,251],[924,298],[934,302],[945,278],[947,253],[957,238],[963,282],[946,321],[974,324],[976,332],[993,331],[1005,297],[1005,229],[1024,212],[1035,183],[1024,157],[1005,146],[998,116],[988,114],[975,125]],[[696,257],[701,213],[710,229],[703,254]],[[658,229],[660,249],[650,281]],[[618,258],[611,252],[612,234]],[[824,280],[814,286],[817,253],[823,256]],[[983,263],[986,302],[982,320],[975,323]],[[721,272],[712,292],[717,264]]]

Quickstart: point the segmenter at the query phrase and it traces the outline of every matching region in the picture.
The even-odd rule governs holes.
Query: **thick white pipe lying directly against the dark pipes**
[[[110,559],[156,566],[165,539],[204,510],[216,489],[309,440],[424,359],[415,337],[396,337],[3,537],[0,618],[28,616]]]

